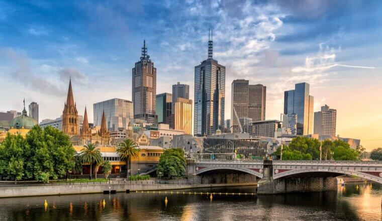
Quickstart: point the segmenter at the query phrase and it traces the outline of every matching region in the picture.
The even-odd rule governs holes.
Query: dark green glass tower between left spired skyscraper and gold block
[[[158,123],[168,123],[172,113],[172,94],[161,93],[156,95],[156,111]]]

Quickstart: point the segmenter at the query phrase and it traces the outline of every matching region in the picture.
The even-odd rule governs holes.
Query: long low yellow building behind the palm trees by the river
[[[73,146],[77,153],[80,153],[83,146]],[[138,172],[143,173],[150,170],[159,163],[159,158],[162,155],[164,149],[157,146],[138,146],[138,157],[131,159],[131,175],[135,175]],[[126,176],[126,161],[121,160],[119,154],[116,152],[116,146],[99,146],[98,149],[101,152],[104,161],[110,161],[112,164],[112,174]],[[88,165],[83,166],[82,174],[89,174],[90,168]],[[102,169],[99,168],[97,174],[102,174]]]

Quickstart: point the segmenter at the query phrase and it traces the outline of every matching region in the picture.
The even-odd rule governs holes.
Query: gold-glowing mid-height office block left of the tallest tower
[[[174,109],[174,130],[192,133],[193,100],[178,97]]]

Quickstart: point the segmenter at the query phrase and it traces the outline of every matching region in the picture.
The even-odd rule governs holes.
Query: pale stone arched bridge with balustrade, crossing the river
[[[337,188],[335,177],[344,174],[382,184],[380,161],[234,160],[227,154],[225,157],[218,154],[211,157],[210,154],[210,157],[202,155],[188,159],[188,174],[200,177],[235,172],[251,174],[259,180],[260,190],[267,186],[264,191],[271,193],[297,191],[299,188],[303,191],[334,189]]]

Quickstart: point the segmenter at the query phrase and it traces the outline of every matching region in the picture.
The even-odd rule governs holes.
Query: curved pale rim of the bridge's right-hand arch
[[[278,174],[273,174],[273,179],[278,179],[281,177],[286,177],[286,176],[292,176],[292,175],[297,175],[297,174],[302,174],[302,173],[337,173],[337,174],[347,174],[347,175],[354,175],[358,176],[361,178],[365,178],[371,181],[375,181],[377,183],[382,184],[382,178],[378,176],[373,176],[367,173],[362,173],[358,171],[347,171],[347,170],[336,170],[336,169],[302,169],[302,170],[291,170],[291,171],[286,171]]]

